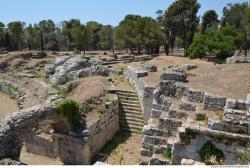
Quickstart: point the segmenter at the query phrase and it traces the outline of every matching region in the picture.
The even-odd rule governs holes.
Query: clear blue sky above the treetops
[[[228,3],[250,0],[198,0],[198,15],[214,9],[219,16]],[[52,19],[56,23],[71,18],[86,23],[90,20],[116,26],[127,14],[156,17],[155,11],[165,10],[174,0],[1,0],[0,21],[5,24],[21,20],[36,23]]]

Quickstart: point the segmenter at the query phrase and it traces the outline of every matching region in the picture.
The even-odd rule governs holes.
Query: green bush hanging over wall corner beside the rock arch
[[[64,100],[56,105],[56,113],[67,118],[72,130],[77,130],[81,126],[81,115],[79,113],[79,104],[74,100]]]

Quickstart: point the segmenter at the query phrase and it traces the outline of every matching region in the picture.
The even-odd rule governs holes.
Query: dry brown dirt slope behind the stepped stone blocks
[[[246,95],[250,93],[250,64],[214,64],[200,59],[163,55],[146,63],[155,64],[158,68],[157,72],[149,73],[149,76],[143,78],[151,86],[158,84],[160,75],[168,66],[183,67],[184,64],[195,64],[198,68],[187,72],[187,86],[237,99],[246,99]],[[113,67],[126,69],[128,65],[139,67],[142,63],[115,64]]]

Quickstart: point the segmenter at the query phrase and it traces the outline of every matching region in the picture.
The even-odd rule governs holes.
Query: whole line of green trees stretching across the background
[[[191,58],[213,55],[228,57],[235,50],[247,52],[250,44],[250,4],[227,4],[218,19],[214,10],[200,18],[197,0],[176,0],[165,11],[156,11],[157,18],[127,15],[118,26],[102,25],[78,19],[52,20],[37,24],[15,21],[0,22],[0,48],[13,50],[115,50],[131,53],[159,53],[164,48],[184,48]]]

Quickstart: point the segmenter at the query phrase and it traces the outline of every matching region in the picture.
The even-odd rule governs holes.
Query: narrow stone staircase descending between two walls
[[[120,102],[119,120],[121,130],[141,134],[144,119],[136,92],[117,90],[116,94]]]

